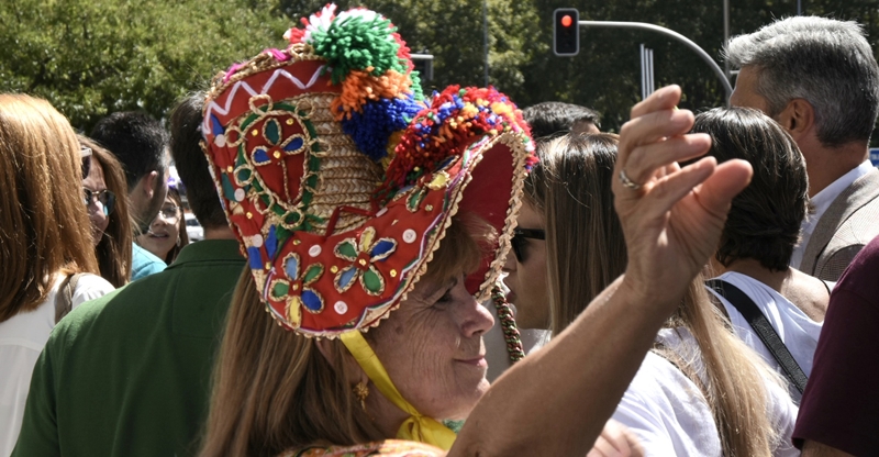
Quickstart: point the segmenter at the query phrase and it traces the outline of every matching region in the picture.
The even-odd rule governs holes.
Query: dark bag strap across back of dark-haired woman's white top
[[[763,312],[760,312],[760,309],[757,308],[757,304],[754,303],[754,300],[737,287],[720,279],[710,279],[705,281],[705,285],[717,291],[742,313],[748,325],[754,328],[757,337],[760,338],[763,344],[769,349],[769,353],[772,354],[776,361],[778,361],[778,365],[781,366],[785,376],[793,383],[800,393],[803,393],[805,381],[808,380],[802,368],[800,368],[800,365],[797,364],[797,360],[793,359],[790,350],[785,346],[785,342],[778,336],[778,333],[769,323],[769,320],[766,319]]]

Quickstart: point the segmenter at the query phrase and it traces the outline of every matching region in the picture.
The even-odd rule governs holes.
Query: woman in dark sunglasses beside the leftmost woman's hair
[[[78,135],[82,148],[91,152],[91,165],[82,179],[82,193],[91,221],[91,242],[101,277],[114,287],[131,278],[132,226],[125,172],[115,156],[97,143]]]

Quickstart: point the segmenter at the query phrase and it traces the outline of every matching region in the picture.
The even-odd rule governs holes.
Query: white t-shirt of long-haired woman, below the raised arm
[[[678,333],[679,332],[679,333]],[[699,346],[686,330],[663,330],[657,342],[682,359],[694,360],[704,376]],[[797,406],[780,386],[766,383],[770,420],[780,433],[774,456],[798,456],[791,444]],[[648,353],[623,394],[613,419],[641,439],[646,456],[722,456],[720,435],[704,395],[668,360]]]

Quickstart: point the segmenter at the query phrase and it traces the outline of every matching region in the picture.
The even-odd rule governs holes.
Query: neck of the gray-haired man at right
[[[865,143],[848,143],[838,147],[825,147],[817,138],[801,142],[800,149],[809,174],[809,198],[824,190],[869,157]]]

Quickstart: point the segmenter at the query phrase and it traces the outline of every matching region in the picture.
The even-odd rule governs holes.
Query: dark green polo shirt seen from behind
[[[236,242],[201,241],[165,271],[74,310],[36,363],[12,455],[196,454],[244,266]]]

